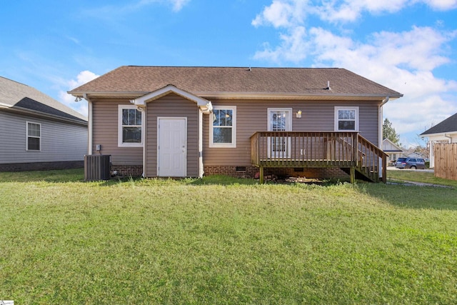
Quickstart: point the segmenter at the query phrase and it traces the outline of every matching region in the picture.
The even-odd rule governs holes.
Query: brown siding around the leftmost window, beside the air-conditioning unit
[[[118,147],[118,105],[131,106],[129,99],[93,100],[92,154],[110,154],[113,165],[142,165],[143,147]]]

